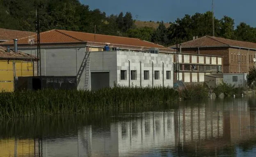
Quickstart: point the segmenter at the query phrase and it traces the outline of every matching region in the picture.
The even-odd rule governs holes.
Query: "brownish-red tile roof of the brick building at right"
[[[212,37],[212,36],[203,36],[201,38],[190,40],[188,42],[181,43],[183,48],[185,47],[205,47],[205,46],[212,46],[212,47],[231,47],[231,46],[238,46],[243,48],[249,49],[256,49],[256,43],[254,42],[243,42],[238,40],[231,40],[219,37]],[[176,48],[176,46],[170,46],[171,48]]]

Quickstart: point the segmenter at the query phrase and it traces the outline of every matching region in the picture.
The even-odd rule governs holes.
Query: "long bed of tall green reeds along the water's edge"
[[[171,103],[178,91],[170,87],[114,87],[99,91],[39,90],[0,92],[0,118],[62,113],[90,113]]]

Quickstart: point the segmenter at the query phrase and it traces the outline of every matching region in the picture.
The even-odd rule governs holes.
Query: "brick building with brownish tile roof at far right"
[[[222,56],[223,73],[248,73],[255,65],[256,43],[253,42],[203,36],[180,45],[181,53]]]

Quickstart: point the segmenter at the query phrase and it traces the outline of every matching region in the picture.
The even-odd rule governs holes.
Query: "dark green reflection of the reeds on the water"
[[[106,111],[94,111],[90,114],[40,115],[0,121],[0,138],[61,138],[76,136],[78,129],[84,126],[109,128],[111,122],[137,119],[138,117],[117,116],[122,113],[141,113],[176,108],[176,105],[149,105],[134,108],[119,108]]]

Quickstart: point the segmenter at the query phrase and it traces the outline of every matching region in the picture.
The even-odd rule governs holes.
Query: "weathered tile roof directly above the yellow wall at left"
[[[34,55],[29,55],[22,52],[10,52],[6,51],[6,48],[0,46],[0,60],[37,60],[37,57]]]

